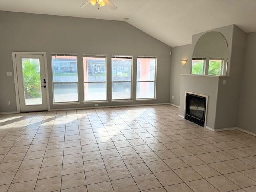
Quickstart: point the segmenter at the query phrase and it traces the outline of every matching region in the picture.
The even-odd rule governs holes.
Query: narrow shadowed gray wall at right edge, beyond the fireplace
[[[256,32],[247,34],[240,92],[238,127],[256,133]]]

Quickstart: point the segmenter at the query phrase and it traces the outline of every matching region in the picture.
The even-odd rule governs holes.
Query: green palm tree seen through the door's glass
[[[25,98],[40,98],[41,78],[39,62],[26,59],[22,61]]]

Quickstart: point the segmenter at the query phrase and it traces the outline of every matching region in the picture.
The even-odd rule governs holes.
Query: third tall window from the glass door
[[[112,100],[132,98],[132,56],[112,56]]]

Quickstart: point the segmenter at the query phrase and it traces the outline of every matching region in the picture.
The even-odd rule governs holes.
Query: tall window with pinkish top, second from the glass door
[[[106,56],[84,55],[84,101],[106,100]]]

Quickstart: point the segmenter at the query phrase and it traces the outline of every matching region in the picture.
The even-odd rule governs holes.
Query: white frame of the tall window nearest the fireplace
[[[156,60],[155,62],[155,79],[154,81],[138,81],[138,70],[137,70],[137,66],[138,66],[138,59],[140,58],[144,58],[144,59],[152,59],[154,58]],[[157,74],[157,57],[156,56],[137,56],[137,60],[136,60],[136,100],[156,100],[156,74]],[[138,86],[138,82],[154,82],[154,97],[153,98],[137,98],[137,86]]]

